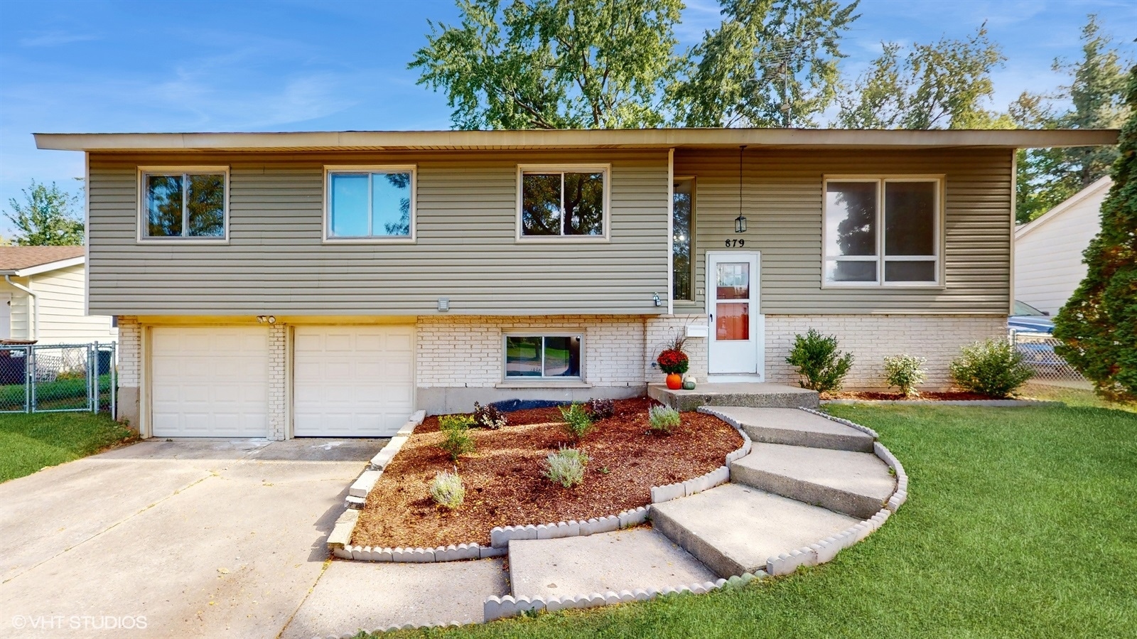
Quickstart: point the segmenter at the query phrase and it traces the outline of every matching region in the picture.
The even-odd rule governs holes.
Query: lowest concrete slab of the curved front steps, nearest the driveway
[[[509,588],[514,597],[603,595],[608,590],[674,588],[715,579],[698,559],[648,528],[509,541]]]

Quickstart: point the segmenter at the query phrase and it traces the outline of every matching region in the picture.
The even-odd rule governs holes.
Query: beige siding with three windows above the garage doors
[[[662,150],[91,153],[90,304],[117,315],[656,314]],[[609,163],[611,238],[515,240],[518,164]],[[323,241],[324,165],[417,165],[414,244]],[[225,246],[136,241],[136,167],[227,165]]]

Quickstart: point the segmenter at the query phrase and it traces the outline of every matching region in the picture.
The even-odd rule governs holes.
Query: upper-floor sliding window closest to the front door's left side
[[[604,166],[520,171],[518,238],[606,235]]]

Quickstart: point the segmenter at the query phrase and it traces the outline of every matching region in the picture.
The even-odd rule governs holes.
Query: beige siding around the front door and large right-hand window
[[[738,216],[738,151],[675,151],[675,175],[696,177],[696,293],[706,288],[707,250],[762,251],[761,310],[778,315],[868,313],[1003,314],[1010,299],[1012,151],[939,149],[823,151],[747,149]],[[941,288],[821,285],[825,175],[945,175]],[[724,240],[746,239],[745,249]],[[675,302],[702,312],[705,296]]]

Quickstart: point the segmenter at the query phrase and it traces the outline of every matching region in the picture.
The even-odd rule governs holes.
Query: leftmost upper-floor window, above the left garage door
[[[143,169],[142,239],[224,240],[226,168]]]

